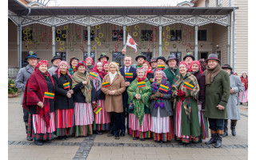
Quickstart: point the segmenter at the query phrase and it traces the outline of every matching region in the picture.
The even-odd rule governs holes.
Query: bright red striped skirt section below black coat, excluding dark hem
[[[74,109],[55,110],[56,128],[74,126]]]

